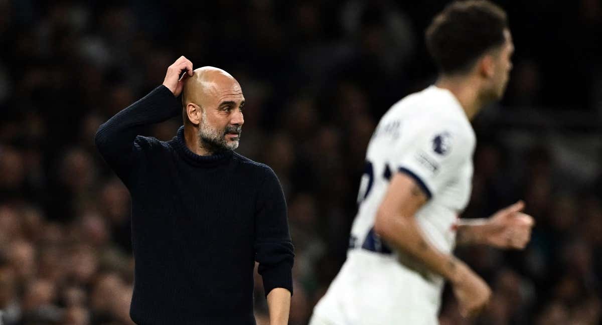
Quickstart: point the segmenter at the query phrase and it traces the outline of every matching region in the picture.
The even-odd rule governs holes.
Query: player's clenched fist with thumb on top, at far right
[[[503,249],[524,249],[529,243],[535,222],[533,217],[521,212],[523,208],[524,202],[518,201],[495,212],[487,223],[486,243]]]

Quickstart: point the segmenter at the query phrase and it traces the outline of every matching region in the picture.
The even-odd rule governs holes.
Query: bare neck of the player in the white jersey
[[[436,87],[452,92],[469,120],[479,113],[485,101],[479,94],[479,84],[474,78],[466,76],[441,76],[435,83]]]

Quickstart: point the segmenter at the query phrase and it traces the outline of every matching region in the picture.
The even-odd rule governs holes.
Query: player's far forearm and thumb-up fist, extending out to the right
[[[458,245],[485,244],[501,249],[524,249],[529,243],[533,217],[521,211],[518,201],[495,212],[489,218],[459,219],[456,228]]]

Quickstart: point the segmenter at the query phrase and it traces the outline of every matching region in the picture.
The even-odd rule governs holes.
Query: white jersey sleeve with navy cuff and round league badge
[[[430,199],[471,159],[474,140],[466,128],[447,119],[432,119],[414,129],[394,147],[393,166],[414,178]]]

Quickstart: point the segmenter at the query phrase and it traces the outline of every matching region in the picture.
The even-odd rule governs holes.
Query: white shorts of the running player
[[[438,324],[443,280],[393,256],[353,249],[314,308],[310,325]]]

